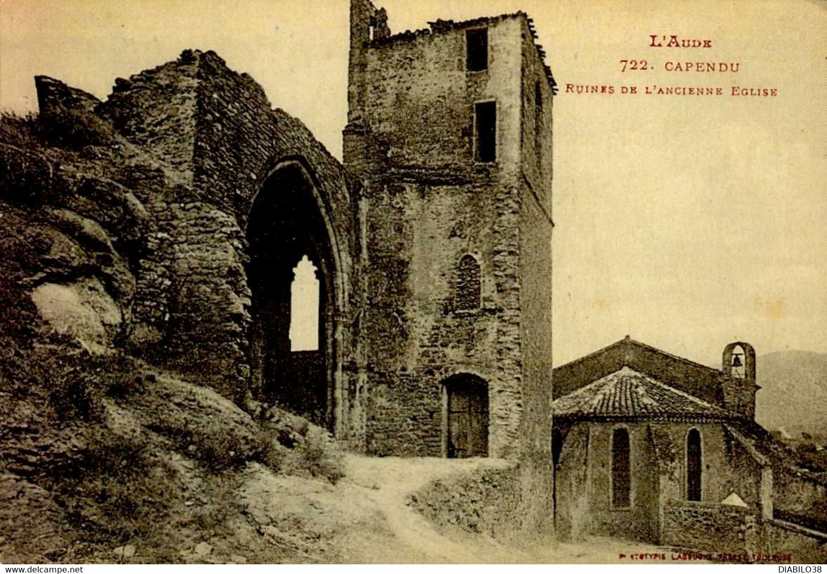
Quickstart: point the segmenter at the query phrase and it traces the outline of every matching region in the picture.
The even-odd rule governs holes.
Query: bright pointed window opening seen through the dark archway
[[[319,292],[316,265],[308,256],[296,265],[290,285],[290,351],[318,351]]]

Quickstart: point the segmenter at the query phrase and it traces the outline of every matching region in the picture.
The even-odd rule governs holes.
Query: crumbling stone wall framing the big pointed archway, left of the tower
[[[358,367],[356,339],[344,328],[354,323],[350,309],[362,306],[352,287],[358,204],[342,166],[308,129],[272,110],[255,81],[212,52],[186,50],[178,60],[117,79],[104,102],[56,80],[39,78],[38,88],[46,115],[112,132],[116,145],[105,148],[112,157],[98,152],[98,162],[72,180],[78,191],[69,198],[79,213],[105,219],[113,245],[134,254],[127,348],[239,401],[249,396],[251,380],[247,218],[275,167],[304,166],[335,251],[327,278],[337,286],[327,346],[335,356],[327,364],[336,432],[347,441],[351,430],[363,429],[350,416]],[[363,445],[363,434],[353,443]]]

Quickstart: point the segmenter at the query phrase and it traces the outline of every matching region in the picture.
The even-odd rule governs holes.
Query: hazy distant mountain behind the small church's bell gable
[[[827,353],[779,351],[758,357],[756,419],[765,428],[783,428],[827,438]]]

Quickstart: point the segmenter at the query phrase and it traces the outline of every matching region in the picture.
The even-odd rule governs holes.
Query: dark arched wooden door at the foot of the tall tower
[[[448,385],[448,457],[488,456],[488,388],[476,379]]]

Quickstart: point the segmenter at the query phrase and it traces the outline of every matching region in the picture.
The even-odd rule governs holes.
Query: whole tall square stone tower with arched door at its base
[[[521,12],[391,35],[352,0],[369,452],[548,465],[554,85]]]

